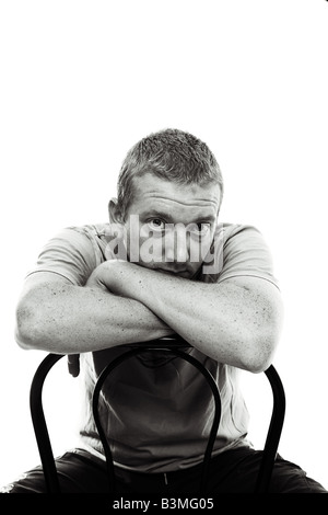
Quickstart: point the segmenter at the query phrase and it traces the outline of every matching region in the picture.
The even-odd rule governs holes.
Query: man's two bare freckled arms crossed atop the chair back
[[[15,334],[23,348],[78,354],[178,333],[221,363],[258,373],[272,362],[282,311],[266,279],[204,284],[113,260],[84,287],[55,273],[28,276]]]

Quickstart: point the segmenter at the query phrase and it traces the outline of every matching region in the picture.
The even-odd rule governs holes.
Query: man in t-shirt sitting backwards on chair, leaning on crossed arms
[[[166,129],[127,154],[109,224],[65,229],[43,249],[17,305],[23,348],[68,354],[85,392],[81,448],[57,458],[63,492],[106,492],[103,447],[91,413],[93,386],[131,342],[178,334],[218,381],[222,419],[208,492],[251,492],[261,453],[247,440],[238,370],[265,370],[282,324],[270,252],[258,230],[219,222],[223,182],[206,144]],[[107,388],[107,390],[106,390]],[[118,492],[195,493],[212,399],[180,359],[147,353],[105,387]],[[108,422],[107,422],[108,421]],[[44,492],[40,468],[7,488]],[[277,459],[272,492],[325,492]]]

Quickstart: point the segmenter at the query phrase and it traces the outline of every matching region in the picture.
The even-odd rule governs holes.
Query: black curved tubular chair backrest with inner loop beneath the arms
[[[184,347],[188,347],[189,344],[181,339],[161,339],[151,342],[141,342],[137,344],[131,344],[129,346],[125,345],[125,348],[128,348],[125,353],[118,356],[116,359],[109,363],[102,374],[98,377],[97,384],[94,389],[93,394],[93,414],[99,437],[104,447],[107,470],[108,470],[108,491],[114,493],[115,488],[115,469],[113,465],[113,458],[110,453],[110,447],[108,440],[105,436],[105,433],[102,427],[102,423],[98,416],[98,399],[102,387],[108,377],[108,375],[117,368],[124,360],[129,359],[132,356],[139,355],[143,352],[169,352],[174,353],[177,357],[187,360],[191,366],[196,367],[206,378],[209,388],[211,388],[213,399],[214,399],[214,413],[212,420],[212,427],[209,435],[207,448],[203,457],[203,467],[202,467],[202,477],[200,484],[200,492],[206,492],[207,478],[209,472],[210,458],[218,433],[220,417],[221,417],[221,399],[219,389],[215,380],[209,373],[209,370],[194,356],[189,355],[184,351]],[[32,422],[34,426],[35,437],[39,450],[39,456],[43,465],[45,481],[47,491],[49,493],[60,493],[59,481],[57,477],[57,470],[54,459],[54,453],[51,449],[50,438],[48,434],[47,423],[44,415],[42,392],[45,379],[52,368],[52,366],[62,357],[61,354],[48,354],[40,365],[38,366],[31,386],[30,393],[30,407]],[[272,394],[273,394],[273,409],[270,420],[269,431],[267,434],[266,444],[263,447],[262,460],[260,464],[260,469],[258,472],[257,484],[255,493],[267,492],[271,479],[271,473],[274,465],[274,459],[278,450],[278,445],[282,432],[284,412],[285,412],[285,398],[284,390],[280,377],[271,365],[265,371],[267,378],[269,379]]]

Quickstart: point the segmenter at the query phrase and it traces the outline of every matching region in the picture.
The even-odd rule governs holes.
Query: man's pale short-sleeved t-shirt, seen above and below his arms
[[[114,238],[109,224],[63,229],[46,243],[30,273],[52,272],[84,286],[96,266],[117,258]],[[277,286],[262,234],[253,226],[220,224],[194,281],[221,283],[236,276],[255,276]],[[104,367],[126,351],[117,346],[82,353],[80,357],[84,396],[81,446],[102,458],[104,450],[92,414],[93,389]],[[238,385],[241,370],[195,347],[186,352],[209,369],[219,387],[222,414],[212,456],[250,446],[248,412]],[[105,381],[99,399],[115,465],[140,472],[168,472],[200,464],[213,410],[212,391],[203,376],[186,360],[167,354],[163,359],[151,355],[129,358]]]

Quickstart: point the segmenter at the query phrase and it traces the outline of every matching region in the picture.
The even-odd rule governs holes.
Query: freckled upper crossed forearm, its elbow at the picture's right
[[[129,277],[121,294],[143,302],[208,356],[251,371],[270,363],[280,328],[273,285],[247,277],[204,284],[132,264],[122,268]]]

